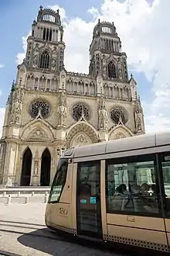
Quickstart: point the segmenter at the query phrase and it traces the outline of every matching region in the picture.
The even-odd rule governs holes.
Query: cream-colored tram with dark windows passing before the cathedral
[[[70,148],[60,157],[46,226],[170,251],[170,133]]]

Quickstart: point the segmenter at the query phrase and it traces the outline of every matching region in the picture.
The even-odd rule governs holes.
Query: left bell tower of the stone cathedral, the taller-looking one
[[[65,44],[59,10],[39,7],[27,39],[25,64],[29,71],[59,72],[63,69]]]

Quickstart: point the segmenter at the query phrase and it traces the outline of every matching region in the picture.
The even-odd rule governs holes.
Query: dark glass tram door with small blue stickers
[[[77,234],[102,238],[100,161],[79,163],[76,179]]]

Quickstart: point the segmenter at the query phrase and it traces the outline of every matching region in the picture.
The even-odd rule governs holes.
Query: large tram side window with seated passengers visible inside
[[[107,213],[159,213],[155,155],[112,159],[106,164]]]

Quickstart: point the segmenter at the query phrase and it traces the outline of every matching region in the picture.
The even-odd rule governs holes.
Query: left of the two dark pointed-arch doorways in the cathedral
[[[27,147],[22,157],[22,174],[21,174],[21,182],[20,182],[22,186],[30,185],[31,168],[32,168],[32,152],[29,149],[29,147]]]

